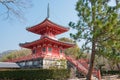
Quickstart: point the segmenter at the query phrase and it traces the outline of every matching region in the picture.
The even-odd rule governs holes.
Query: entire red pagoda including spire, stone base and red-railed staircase
[[[75,44],[57,40],[56,36],[67,32],[69,28],[58,25],[49,20],[49,4],[47,18],[27,31],[40,35],[38,40],[19,44],[23,48],[31,49],[28,56],[8,60],[17,63],[20,68],[73,68],[76,75],[86,76],[88,73],[88,61],[76,60],[64,54],[64,50],[73,47]],[[78,72],[77,72],[78,71]],[[93,71],[93,76],[101,80],[100,72]]]

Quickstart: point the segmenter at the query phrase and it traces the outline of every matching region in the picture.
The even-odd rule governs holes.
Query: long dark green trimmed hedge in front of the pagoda
[[[66,80],[70,71],[66,69],[16,69],[0,71],[0,80]]]

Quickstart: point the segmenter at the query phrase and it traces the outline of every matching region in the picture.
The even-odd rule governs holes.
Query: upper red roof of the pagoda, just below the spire
[[[63,27],[61,25],[55,24],[54,22],[48,20],[47,18],[33,27],[27,28],[28,31],[36,34],[44,34],[50,30],[54,35],[64,33],[69,30],[69,28]]]

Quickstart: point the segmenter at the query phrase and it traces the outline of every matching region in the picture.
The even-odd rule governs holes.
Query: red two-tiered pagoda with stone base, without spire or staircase
[[[68,31],[69,28],[57,25],[46,18],[42,23],[26,30],[41,35],[40,39],[20,44],[23,48],[31,49],[32,54],[16,59],[14,62],[17,62],[21,67],[50,68],[53,66],[63,67],[64,60],[64,67],[67,67],[63,50],[74,46],[74,44],[58,41],[55,36]]]

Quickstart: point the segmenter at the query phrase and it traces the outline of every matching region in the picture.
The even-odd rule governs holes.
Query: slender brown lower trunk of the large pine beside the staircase
[[[91,53],[91,58],[90,58],[90,66],[87,74],[87,79],[86,80],[92,80],[92,71],[94,67],[94,59],[95,59],[95,42],[92,42],[92,53]]]

